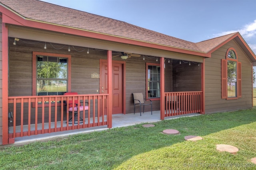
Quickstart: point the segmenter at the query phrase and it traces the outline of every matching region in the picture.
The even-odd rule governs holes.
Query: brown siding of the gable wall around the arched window
[[[242,63],[242,98],[221,99],[221,59],[226,59],[228,48],[236,50],[238,62]],[[232,40],[223,45],[211,58],[205,59],[205,112],[216,113],[252,107],[252,66],[248,57]]]

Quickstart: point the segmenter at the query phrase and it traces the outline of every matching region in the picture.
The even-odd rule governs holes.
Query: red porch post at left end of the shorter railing
[[[164,120],[164,57],[160,58],[160,119]]]

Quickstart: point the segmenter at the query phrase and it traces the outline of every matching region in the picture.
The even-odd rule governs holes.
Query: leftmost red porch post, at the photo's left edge
[[[2,21],[2,19],[1,19]],[[0,124],[0,130],[2,131],[2,137],[0,136],[0,144],[8,144],[8,27],[5,23],[2,23],[2,111],[0,117],[2,117],[2,127]],[[2,128],[2,129],[1,129]],[[10,143],[14,143],[10,141]]]

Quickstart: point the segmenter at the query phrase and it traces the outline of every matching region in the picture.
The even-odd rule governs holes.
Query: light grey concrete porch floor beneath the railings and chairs
[[[177,116],[171,116],[171,117],[165,117],[165,119],[176,119],[179,117],[188,117],[188,116],[195,116],[200,115],[199,113],[190,113],[185,115],[177,115]],[[142,113],[140,116],[140,113],[133,113],[130,114],[118,114],[118,115],[112,115],[112,128],[116,127],[126,127],[130,125],[136,125],[140,123],[152,123],[157,122],[160,120],[160,111],[153,111],[152,115],[151,112],[145,112]],[[18,127],[17,127],[18,128]],[[17,129],[16,128],[16,129]],[[103,131],[109,129],[107,125],[104,126],[98,126],[98,127],[90,127],[85,129],[75,129],[70,131],[62,131],[62,132],[53,132],[53,133],[45,133],[40,135],[32,135],[32,136],[26,136],[26,137],[16,137],[14,144],[22,144],[22,143],[30,143],[34,141],[44,141],[49,139],[57,139],[61,137],[68,137],[70,135],[80,134],[80,133],[90,133],[93,131]]]

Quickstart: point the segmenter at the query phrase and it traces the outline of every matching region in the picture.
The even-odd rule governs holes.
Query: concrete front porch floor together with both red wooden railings
[[[154,111],[152,115],[147,112],[140,116],[132,113],[112,115],[108,109],[108,94],[9,97],[9,110],[13,111],[8,122],[9,143],[38,140],[40,136],[48,138],[52,134],[74,134],[202,113],[202,92],[165,92],[163,98],[164,112]],[[80,101],[78,108],[88,105],[88,110],[76,113],[79,121],[72,121],[78,119],[74,109],[66,109],[69,101],[75,100]],[[75,107],[74,104],[72,107]]]

